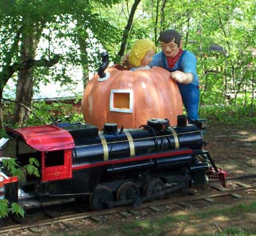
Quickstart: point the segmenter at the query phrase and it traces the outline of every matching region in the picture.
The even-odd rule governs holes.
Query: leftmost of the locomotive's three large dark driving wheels
[[[113,194],[111,189],[106,186],[97,187],[90,195],[90,206],[95,210],[107,209],[106,202],[113,201]]]

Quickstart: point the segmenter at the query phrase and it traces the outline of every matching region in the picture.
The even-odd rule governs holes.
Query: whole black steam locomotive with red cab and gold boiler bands
[[[93,209],[140,203],[167,193],[204,186],[208,177],[225,181],[203,149],[205,121],[177,127],[167,119],[150,119],[138,129],[106,123],[102,131],[90,124],[56,123],[10,129],[17,139],[20,166],[29,158],[40,163],[40,177],[28,175],[22,191],[43,198],[89,198]],[[8,178],[8,172],[1,168]],[[10,178],[12,179],[12,178]],[[18,201],[17,179],[6,181],[4,197]]]

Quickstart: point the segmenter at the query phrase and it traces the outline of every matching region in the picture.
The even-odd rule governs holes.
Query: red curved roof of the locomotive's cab
[[[22,138],[26,144],[41,152],[73,149],[75,147],[74,140],[70,133],[54,125],[18,129],[7,127],[6,133],[16,138]]]

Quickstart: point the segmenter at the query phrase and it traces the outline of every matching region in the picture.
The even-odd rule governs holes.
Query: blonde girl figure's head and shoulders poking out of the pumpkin
[[[150,40],[138,40],[129,52],[129,65],[131,71],[148,70],[149,63],[152,62],[153,55],[156,53],[156,45]]]

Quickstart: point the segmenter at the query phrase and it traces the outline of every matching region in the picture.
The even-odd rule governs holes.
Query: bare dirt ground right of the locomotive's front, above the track
[[[256,173],[256,128],[209,125],[204,140],[205,149],[230,177]]]

